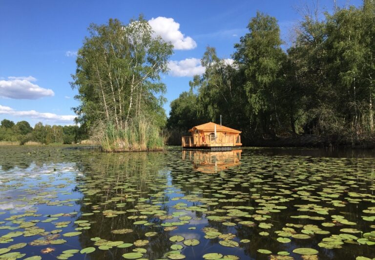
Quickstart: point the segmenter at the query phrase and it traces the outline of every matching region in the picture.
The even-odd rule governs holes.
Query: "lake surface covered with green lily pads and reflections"
[[[0,148],[0,259],[372,259],[375,153]]]

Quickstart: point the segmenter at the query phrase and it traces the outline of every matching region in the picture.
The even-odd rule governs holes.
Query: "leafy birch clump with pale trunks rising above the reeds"
[[[171,43],[153,37],[140,17],[123,24],[91,24],[89,36],[78,51],[72,88],[81,105],[74,108],[78,121],[88,127],[97,121],[123,128],[129,120],[147,114],[163,118],[166,90],[161,73],[167,73]],[[165,116],[164,116],[165,117]]]

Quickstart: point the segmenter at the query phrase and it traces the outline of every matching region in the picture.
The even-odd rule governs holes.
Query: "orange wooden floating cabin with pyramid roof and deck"
[[[182,137],[184,149],[210,149],[211,151],[229,151],[238,148],[241,143],[241,131],[212,122],[193,127],[190,136]]]

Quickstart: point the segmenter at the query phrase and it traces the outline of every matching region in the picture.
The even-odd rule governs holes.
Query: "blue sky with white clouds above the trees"
[[[362,0],[336,0],[337,5],[359,6]],[[187,90],[192,74],[208,45],[220,58],[230,59],[233,44],[247,32],[256,11],[276,17],[281,35],[290,43],[290,31],[300,19],[301,7],[316,0],[0,0],[0,120],[26,120],[34,126],[73,124],[72,107],[78,101],[69,86],[76,69],[76,52],[91,22],[109,18],[127,23],[143,14],[155,31],[172,41],[171,71],[164,108]],[[319,8],[331,12],[333,0],[319,0]]]

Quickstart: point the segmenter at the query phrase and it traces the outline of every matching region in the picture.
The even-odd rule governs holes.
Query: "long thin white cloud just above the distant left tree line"
[[[0,114],[12,115],[12,116],[21,116],[21,117],[29,117],[35,119],[42,119],[52,122],[66,122],[71,123],[73,122],[75,115],[57,115],[54,113],[41,113],[35,110],[27,110],[27,111],[18,111],[14,110],[13,108],[1,106],[0,105]]]

